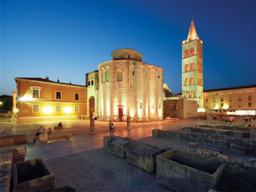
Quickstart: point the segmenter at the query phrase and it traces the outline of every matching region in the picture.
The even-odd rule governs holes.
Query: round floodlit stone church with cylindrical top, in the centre
[[[118,49],[99,65],[99,120],[163,119],[163,69],[142,61],[132,49]]]

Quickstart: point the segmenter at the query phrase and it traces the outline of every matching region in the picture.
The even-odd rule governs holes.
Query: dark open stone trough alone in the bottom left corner
[[[43,159],[33,159],[13,165],[13,191],[50,191],[54,189],[54,174]]]

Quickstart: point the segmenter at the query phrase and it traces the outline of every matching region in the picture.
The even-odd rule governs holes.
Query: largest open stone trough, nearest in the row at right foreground
[[[157,156],[157,182],[176,191],[221,190],[225,163],[170,150]]]

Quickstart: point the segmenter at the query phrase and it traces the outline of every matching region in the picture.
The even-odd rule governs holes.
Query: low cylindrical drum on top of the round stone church
[[[133,49],[117,49],[111,53],[112,60],[142,61],[142,55]]]

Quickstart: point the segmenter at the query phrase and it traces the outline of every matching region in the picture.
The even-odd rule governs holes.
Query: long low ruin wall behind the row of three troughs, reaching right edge
[[[193,132],[182,132],[182,131],[162,131],[152,130],[152,136],[163,137],[168,139],[193,141],[203,145],[209,145],[219,148],[230,147],[231,143],[246,146],[249,153],[256,154],[256,140],[246,138],[233,138],[226,135],[207,134],[207,133],[193,133]]]

